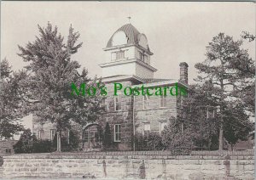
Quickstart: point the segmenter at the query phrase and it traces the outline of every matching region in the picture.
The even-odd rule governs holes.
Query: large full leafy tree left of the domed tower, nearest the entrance
[[[57,151],[61,151],[61,132],[71,128],[71,122],[85,125],[96,121],[101,115],[99,91],[95,96],[72,96],[71,84],[97,87],[96,78],[90,80],[87,70],[79,73],[80,65],[71,60],[82,43],[77,43],[79,32],[70,26],[67,42],[58,34],[57,27],[48,23],[46,28],[38,25],[39,37],[19,46],[20,57],[29,63],[26,71],[30,75],[22,83],[27,89],[24,95],[30,99],[29,110],[38,116],[38,122],[55,123],[57,129]]]

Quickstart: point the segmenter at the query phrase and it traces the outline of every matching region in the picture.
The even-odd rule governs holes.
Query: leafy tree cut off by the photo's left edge
[[[19,82],[24,76],[23,71],[13,72],[7,59],[0,62],[0,139],[23,130],[19,122],[23,115]]]

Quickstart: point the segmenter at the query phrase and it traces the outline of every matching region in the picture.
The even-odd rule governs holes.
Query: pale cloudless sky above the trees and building
[[[26,46],[38,36],[38,25],[57,25],[67,37],[69,26],[79,31],[83,47],[73,55],[89,76],[101,76],[105,48],[113,32],[131,24],[148,38],[154,53],[155,78],[179,78],[179,63],[189,64],[189,82],[197,75],[195,63],[205,59],[212,37],[224,32],[235,39],[241,31],[255,35],[255,3],[167,3],[167,2],[2,2],[1,59],[9,59],[13,70],[26,63],[17,55],[17,45]],[[245,48],[255,59],[255,41]],[[26,121],[30,121],[30,116]]]

